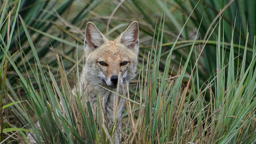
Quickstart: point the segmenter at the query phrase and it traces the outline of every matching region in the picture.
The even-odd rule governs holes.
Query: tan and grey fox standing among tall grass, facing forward
[[[137,21],[132,22],[114,40],[109,40],[104,36],[93,23],[87,23],[84,38],[86,60],[78,81],[79,89],[74,86],[72,93],[76,95],[79,90],[80,93],[87,95],[84,99],[85,102],[90,103],[94,117],[96,116],[97,96],[101,98],[109,128],[113,126],[117,128],[114,136],[116,144],[121,141],[122,109],[125,106],[125,99],[117,98],[117,94],[121,96],[126,94],[127,89],[124,86],[135,78],[138,52],[139,26]],[[115,104],[118,104],[116,110]],[[37,126],[39,127],[38,123]],[[27,134],[30,144],[37,143],[34,137],[33,133]]]

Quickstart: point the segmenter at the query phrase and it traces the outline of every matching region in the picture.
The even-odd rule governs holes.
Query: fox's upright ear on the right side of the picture
[[[130,26],[121,34],[120,42],[129,48],[139,49],[139,25],[134,21]]]

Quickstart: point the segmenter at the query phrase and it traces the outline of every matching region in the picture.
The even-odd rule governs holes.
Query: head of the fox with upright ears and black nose
[[[108,40],[96,26],[88,22],[84,49],[86,64],[83,73],[91,83],[116,88],[136,75],[139,51],[139,27],[132,22],[115,40]],[[118,74],[121,72],[120,78]]]

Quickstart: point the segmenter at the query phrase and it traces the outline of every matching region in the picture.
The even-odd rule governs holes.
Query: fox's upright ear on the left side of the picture
[[[103,43],[103,35],[93,23],[88,22],[85,29],[84,48],[88,46],[92,49],[95,49]]]

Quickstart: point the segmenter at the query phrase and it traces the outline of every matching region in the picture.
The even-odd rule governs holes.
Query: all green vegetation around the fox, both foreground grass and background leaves
[[[25,132],[38,143],[112,143],[116,129],[104,125],[100,98],[96,124],[90,104],[71,90],[86,23],[112,39],[135,20],[139,65],[120,96],[127,100],[122,142],[256,143],[255,1],[0,5],[0,143],[26,143]]]

